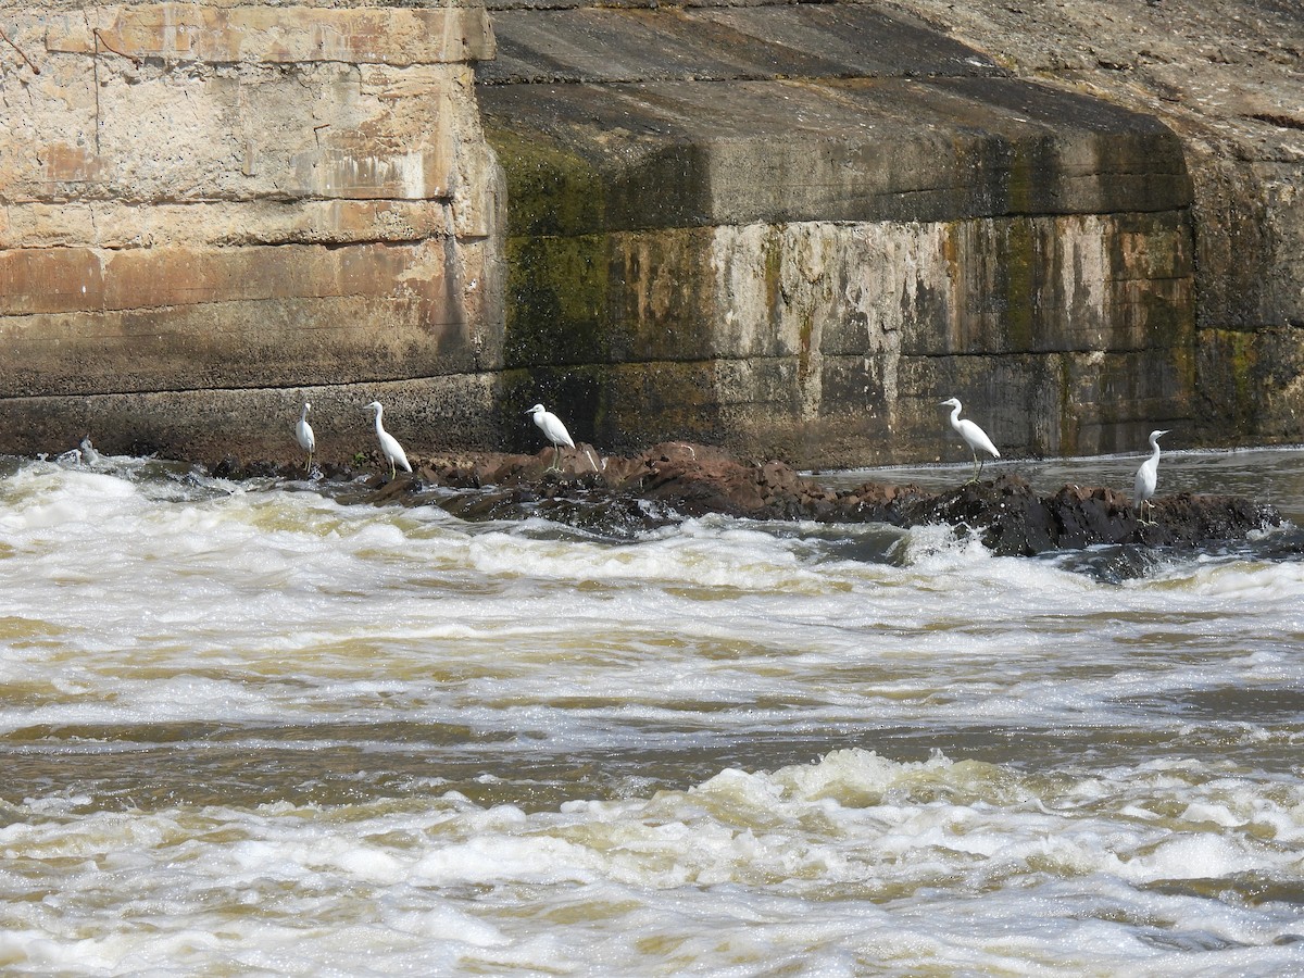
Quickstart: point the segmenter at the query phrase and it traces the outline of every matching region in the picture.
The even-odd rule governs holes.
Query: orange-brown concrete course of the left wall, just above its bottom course
[[[482,246],[0,252],[9,396],[396,379],[477,361]],[[485,357],[486,365],[494,360]]]

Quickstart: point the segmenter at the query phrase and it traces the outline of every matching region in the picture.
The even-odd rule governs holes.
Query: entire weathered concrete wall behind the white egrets
[[[284,458],[304,396],[326,458],[377,396],[415,451],[533,447],[539,399],[819,466],[961,458],[948,395],[1015,456],[1304,439],[1292,3],[0,29],[0,450]]]

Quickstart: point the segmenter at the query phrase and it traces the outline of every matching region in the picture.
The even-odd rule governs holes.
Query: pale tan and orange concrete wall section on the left
[[[493,437],[482,7],[0,14],[0,449],[278,458],[309,396],[322,452],[351,455],[382,393]]]

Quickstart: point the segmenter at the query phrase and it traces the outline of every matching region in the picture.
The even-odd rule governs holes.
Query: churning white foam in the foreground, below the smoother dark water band
[[[1208,775],[1193,762],[1181,771]],[[1114,970],[1144,966],[1170,939],[1288,965],[1291,945],[1275,941],[1297,923],[1290,906],[1146,887],[1299,879],[1297,849],[1204,819],[1128,816],[1124,801],[1144,793],[1137,773],[1168,781],[1116,773],[1086,786],[844,750],[535,814],[456,794],[353,810],[10,807],[22,822],[0,829],[0,960],[30,973],[80,962],[185,974],[232,948],[283,966],[296,945],[296,973],[339,966],[340,953],[399,970],[437,960],[629,973],[689,958],[712,971],[773,958],[849,973]],[[1294,785],[1283,799],[1282,788],[1258,801],[1294,811],[1297,831],[1304,794]],[[30,898],[48,892],[61,896]]]

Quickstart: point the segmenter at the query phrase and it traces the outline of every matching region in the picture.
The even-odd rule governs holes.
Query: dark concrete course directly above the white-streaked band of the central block
[[[512,233],[1191,203],[1166,126],[1026,82],[522,85],[480,100]],[[541,172],[552,188],[532,193],[522,179],[542,185]],[[559,197],[576,184],[595,196],[570,207]]]

